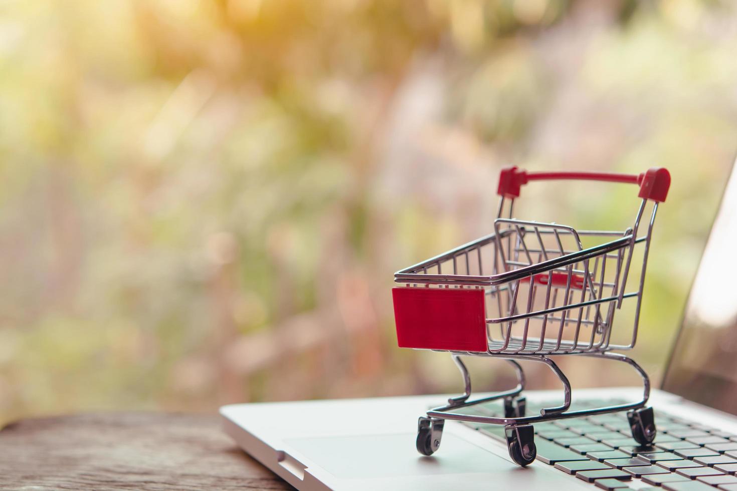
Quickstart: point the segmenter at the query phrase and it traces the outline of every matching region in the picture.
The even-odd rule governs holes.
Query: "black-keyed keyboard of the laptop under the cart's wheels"
[[[575,409],[624,402],[587,400]],[[528,414],[535,414],[531,406]],[[500,407],[471,406],[466,412],[499,416]],[[464,424],[505,442],[503,425]],[[655,424],[655,442],[641,447],[624,411],[535,423],[537,460],[604,490],[737,491],[737,435],[657,410]]]

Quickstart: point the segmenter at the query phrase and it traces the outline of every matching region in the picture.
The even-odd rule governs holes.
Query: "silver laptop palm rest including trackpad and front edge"
[[[523,469],[500,442],[459,423],[441,451],[415,450],[416,414],[444,396],[320,400],[224,406],[239,445],[304,490],[583,489],[547,464]],[[370,417],[357,417],[370,414]],[[298,417],[296,417],[298,416]]]

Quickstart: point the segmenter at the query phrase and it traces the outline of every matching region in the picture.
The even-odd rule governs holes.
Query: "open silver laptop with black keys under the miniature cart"
[[[503,425],[472,421],[445,421],[440,448],[421,455],[418,417],[455,395],[233,404],[220,408],[224,429],[300,490],[737,490],[735,244],[733,171],[663,384],[650,395],[652,445],[635,442],[626,414],[616,412],[536,423],[537,459],[526,467],[510,457]],[[642,390],[573,389],[570,409],[626,404]],[[539,413],[560,392],[526,391],[526,411]],[[478,411],[504,409],[494,400]]]

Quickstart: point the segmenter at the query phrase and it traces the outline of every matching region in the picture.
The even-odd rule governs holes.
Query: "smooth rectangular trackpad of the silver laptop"
[[[439,451],[429,457],[421,456],[415,449],[415,437],[416,434],[377,434],[293,438],[285,442],[338,478],[522,470],[511,461],[456,437],[450,431],[443,435]]]

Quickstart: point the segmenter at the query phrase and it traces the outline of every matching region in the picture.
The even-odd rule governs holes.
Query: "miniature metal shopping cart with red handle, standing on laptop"
[[[601,231],[513,219],[520,188],[535,180],[637,184],[641,202],[635,222],[624,231]],[[670,183],[666,169],[649,169],[640,175],[503,169],[494,233],[394,275],[394,281],[402,284],[392,292],[399,346],[451,353],[465,383],[463,395],[419,418],[416,446],[420,453],[438,450],[444,420],[491,423],[505,425],[509,455],[525,466],[537,455],[531,423],[615,411],[628,411],[632,437],[640,445],[653,442],[654,415],[652,407],[646,407],[648,375],[634,360],[612,350],[635,346],[655,213]],[[649,222],[640,226],[648,215]],[[622,328],[619,322],[614,329],[618,311],[627,325]],[[642,400],[570,409],[570,383],[551,359],[558,355],[624,361],[643,379]],[[471,379],[461,356],[509,361],[517,373],[517,387],[470,400]],[[546,364],[558,376],[564,387],[562,406],[525,415],[525,399],[520,396],[525,378],[518,363],[522,360]],[[499,399],[504,417],[458,412]]]

